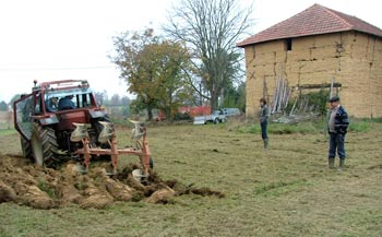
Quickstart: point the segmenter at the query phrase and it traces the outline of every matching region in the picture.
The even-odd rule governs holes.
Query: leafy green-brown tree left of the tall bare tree
[[[189,94],[183,80],[189,54],[183,45],[163,40],[146,29],[115,37],[115,46],[117,55],[111,60],[129,83],[129,92],[136,94],[132,109],[144,108],[152,119],[153,109],[158,108],[170,118],[175,107]]]

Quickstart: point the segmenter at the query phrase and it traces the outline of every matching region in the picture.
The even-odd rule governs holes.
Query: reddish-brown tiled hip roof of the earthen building
[[[357,31],[382,37],[382,29],[351,15],[313,4],[305,11],[275,24],[240,43],[239,47],[282,38]]]

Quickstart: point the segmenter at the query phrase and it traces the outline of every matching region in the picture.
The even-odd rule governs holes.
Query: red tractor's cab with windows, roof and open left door
[[[85,80],[43,82],[22,95],[14,103],[16,130],[27,140],[32,135],[32,123],[52,126],[57,130],[74,130],[73,122],[87,123],[92,118],[105,117]]]

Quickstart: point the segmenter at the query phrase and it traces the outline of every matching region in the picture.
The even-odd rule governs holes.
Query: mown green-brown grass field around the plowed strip
[[[288,132],[279,132],[283,127]],[[226,197],[120,202],[105,210],[1,203],[0,236],[382,236],[382,123],[348,133],[342,173],[326,168],[327,141],[319,129],[287,127],[270,126],[268,151],[255,127],[148,128],[163,179]],[[129,132],[118,129],[120,144]],[[0,153],[20,154],[16,134],[0,140]]]

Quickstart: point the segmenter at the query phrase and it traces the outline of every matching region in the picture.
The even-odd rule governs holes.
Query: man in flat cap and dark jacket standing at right
[[[338,170],[342,171],[345,165],[345,135],[349,126],[349,118],[345,108],[339,103],[338,96],[333,96],[329,99],[331,110],[329,115],[329,168],[334,168],[335,153],[339,157]]]

